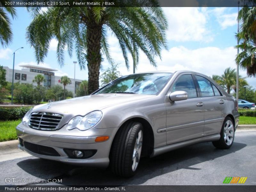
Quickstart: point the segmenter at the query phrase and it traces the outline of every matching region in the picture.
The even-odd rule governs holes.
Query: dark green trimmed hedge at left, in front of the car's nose
[[[31,107],[0,108],[0,121],[21,119],[29,109]]]

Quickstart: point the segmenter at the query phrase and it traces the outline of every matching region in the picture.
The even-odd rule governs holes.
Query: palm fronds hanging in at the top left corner
[[[14,7],[7,7],[5,3],[10,3],[10,0],[0,0],[0,42],[1,45],[8,46],[12,42],[11,20],[16,17],[16,10]]]

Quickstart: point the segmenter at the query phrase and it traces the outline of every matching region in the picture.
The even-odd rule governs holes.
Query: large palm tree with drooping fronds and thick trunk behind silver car
[[[51,39],[56,38],[59,65],[64,65],[66,47],[70,57],[75,51],[80,69],[87,65],[88,92],[92,93],[99,88],[103,55],[110,63],[113,61],[108,45],[108,32],[112,32],[118,39],[127,69],[128,54],[136,67],[140,50],[156,67],[155,57],[161,58],[162,48],[167,49],[167,20],[163,10],[155,0],[147,1],[147,7],[139,1],[135,1],[136,7],[129,7],[129,2],[125,2],[122,7],[50,7],[45,12],[40,7],[30,9],[34,18],[26,36],[35,49],[37,62],[44,60]]]

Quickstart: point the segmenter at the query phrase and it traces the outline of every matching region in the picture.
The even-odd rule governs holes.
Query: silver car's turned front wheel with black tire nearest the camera
[[[138,170],[143,142],[143,127],[138,122],[128,122],[120,127],[114,138],[110,166],[112,172],[132,177]]]

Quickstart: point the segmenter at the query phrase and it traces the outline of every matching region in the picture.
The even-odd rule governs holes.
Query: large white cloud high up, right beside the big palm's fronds
[[[206,27],[207,8],[164,7],[163,10],[168,18],[168,40],[178,42],[213,40],[213,35]]]

